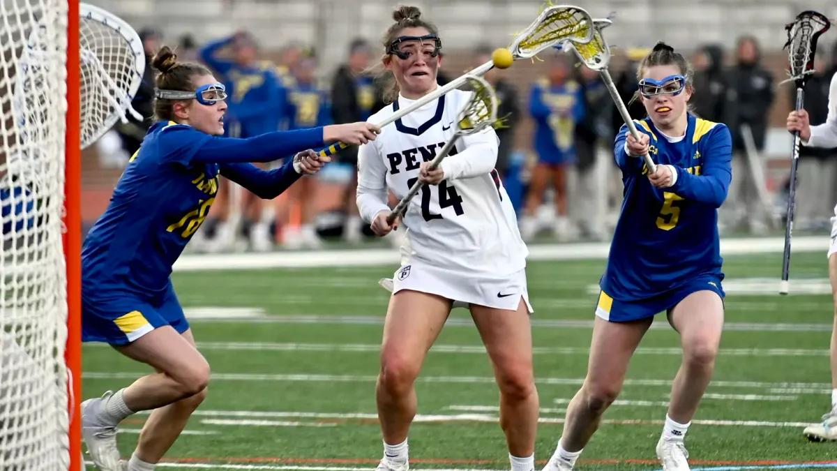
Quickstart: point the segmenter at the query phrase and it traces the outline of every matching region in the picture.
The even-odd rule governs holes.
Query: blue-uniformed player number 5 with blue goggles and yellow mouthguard
[[[616,137],[624,204],[600,281],[587,378],[567,407],[547,471],[569,471],[622,388],[634,350],[657,313],[680,334],[674,380],[657,457],[665,471],[688,471],[684,438],[711,380],[724,318],[717,210],[732,178],[726,126],[691,114],[692,71],[659,43],[637,70],[649,117]],[[650,153],[655,173],[643,158]]]

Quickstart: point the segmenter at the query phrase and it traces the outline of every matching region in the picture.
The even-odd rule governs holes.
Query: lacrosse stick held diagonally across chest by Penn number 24
[[[457,116],[456,132],[448,142],[445,142],[444,147],[439,150],[436,157],[430,161],[429,170],[439,167],[439,163],[442,163],[450,150],[454,148],[457,139],[480,132],[497,121],[497,97],[494,88],[479,75],[466,75],[465,80],[474,91],[470,100],[465,103],[459,116]],[[392,225],[399,215],[403,215],[407,211],[410,199],[413,199],[413,196],[419,193],[419,189],[422,189],[422,187],[424,187],[424,183],[421,181],[416,181],[413,184],[408,194],[401,201],[398,201],[393,212],[387,216],[387,224]]]

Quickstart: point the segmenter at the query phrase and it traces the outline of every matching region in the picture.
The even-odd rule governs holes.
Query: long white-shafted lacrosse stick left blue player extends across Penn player
[[[531,59],[539,52],[553,47],[555,44],[562,41],[574,41],[578,44],[587,44],[593,39],[593,28],[590,25],[593,20],[590,15],[583,8],[573,7],[571,5],[552,5],[545,8],[537,19],[532,22],[528,28],[524,29],[520,34],[517,34],[515,40],[508,47],[511,56],[514,60]],[[392,122],[396,122],[403,116],[418,110],[420,107],[427,105],[431,101],[436,100],[439,96],[459,88],[464,85],[469,77],[477,75],[484,75],[485,72],[494,68],[494,60],[489,60],[483,65],[476,67],[474,70],[467,72],[448,84],[437,88],[432,93],[422,97],[411,106],[407,106],[393,115],[389,116],[383,122],[378,122],[379,127],[387,126]],[[327,157],[334,153],[349,147],[343,142],[336,142],[331,146],[320,151],[321,157]]]

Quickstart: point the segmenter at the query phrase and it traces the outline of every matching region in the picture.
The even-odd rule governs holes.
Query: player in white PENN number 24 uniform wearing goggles
[[[385,76],[393,103],[369,118],[382,122],[436,89],[442,61],[437,28],[419,8],[402,7],[384,38]],[[377,411],[384,457],[378,471],[405,471],[407,437],[416,412],[413,382],[454,301],[470,308],[500,386],[500,422],[511,469],[534,468],[538,398],[532,374],[531,307],[526,292],[526,245],[506,189],[494,170],[498,139],[490,127],[457,141],[439,168],[428,171],[457,127],[470,92],[451,91],[383,127],[358,151],[357,206],[377,235],[393,225],[388,191],[398,199],[426,183],[408,204],[402,265],[393,277],[384,324]],[[395,225],[398,225],[396,220]]]

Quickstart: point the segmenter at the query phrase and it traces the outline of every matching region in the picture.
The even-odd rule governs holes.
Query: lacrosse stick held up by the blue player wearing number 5
[[[611,78],[610,72],[608,71],[608,64],[610,62],[610,47],[608,46],[607,41],[604,40],[602,29],[607,28],[612,23],[613,21],[608,18],[596,18],[593,20],[594,28],[592,40],[588,43],[567,41],[566,43],[561,44],[560,49],[573,50],[578,56],[578,59],[581,60],[584,65],[587,65],[588,68],[592,70],[598,70],[598,75],[602,77],[604,85],[608,88],[608,92],[610,92],[610,97],[613,99],[616,109],[619,110],[619,114],[622,115],[622,121],[624,121],[625,125],[628,127],[631,136],[639,141],[639,132],[636,130],[636,126],[634,126],[634,120],[631,119],[628,107],[625,106],[624,101],[622,101],[622,97],[619,96],[619,91],[616,90],[614,80]],[[654,161],[651,160],[651,156],[648,153],[645,153],[642,158],[645,161],[645,166],[648,167],[648,172],[655,173],[657,171],[657,166]]]

